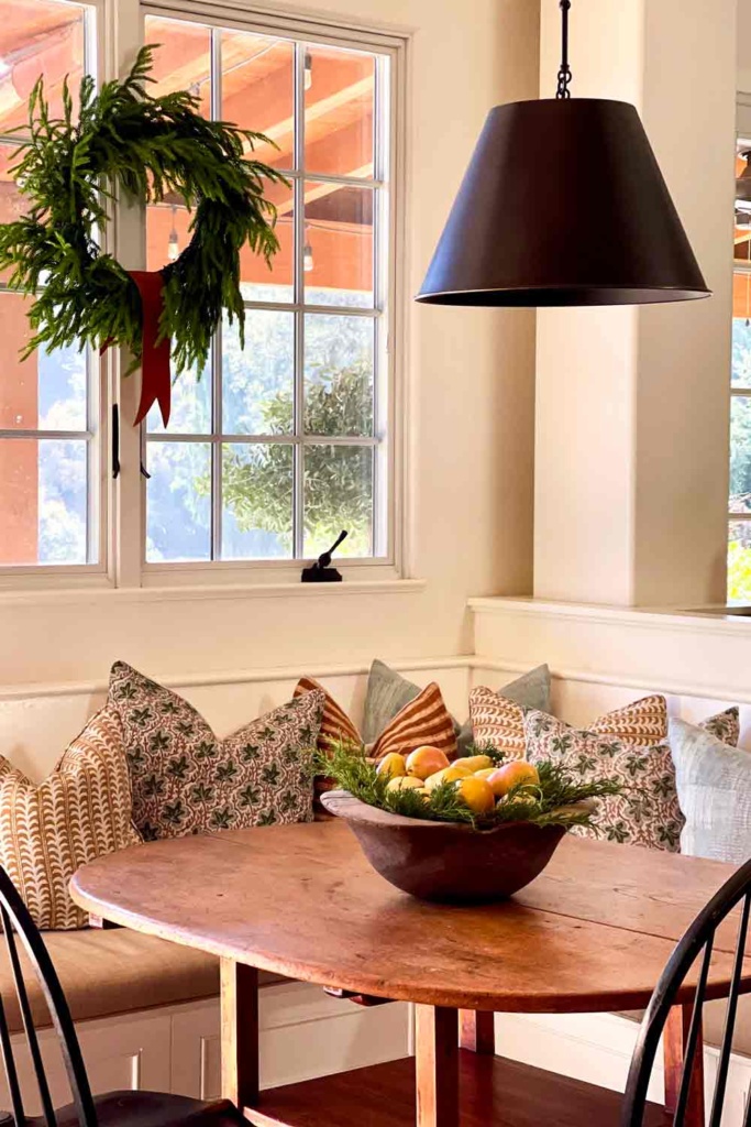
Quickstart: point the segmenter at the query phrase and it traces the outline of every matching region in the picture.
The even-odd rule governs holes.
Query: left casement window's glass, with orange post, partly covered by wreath
[[[74,91],[93,66],[91,8],[62,0],[0,0],[0,222],[21,214],[12,178],[16,141],[42,73],[53,112],[62,82]],[[98,520],[98,364],[86,352],[38,352],[28,300],[0,277],[0,570],[7,566],[93,565]]]

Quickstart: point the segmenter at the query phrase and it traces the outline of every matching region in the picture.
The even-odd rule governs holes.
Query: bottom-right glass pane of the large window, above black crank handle
[[[373,556],[373,450],[369,446],[305,446],[306,558],[320,556],[342,529],[338,556]]]

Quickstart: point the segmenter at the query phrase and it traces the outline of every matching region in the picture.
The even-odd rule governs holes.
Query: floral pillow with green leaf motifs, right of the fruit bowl
[[[632,706],[637,736],[649,727],[641,712],[642,703]],[[543,760],[561,763],[587,782],[615,779],[622,784],[620,795],[599,800],[593,826],[576,826],[574,833],[676,853],[682,817],[670,748],[667,744],[649,747],[638,738],[625,738],[627,711],[618,710],[616,728],[623,729],[619,735],[580,730],[544,712],[527,712],[524,721],[527,757],[531,763]],[[602,717],[600,724],[607,719]]]

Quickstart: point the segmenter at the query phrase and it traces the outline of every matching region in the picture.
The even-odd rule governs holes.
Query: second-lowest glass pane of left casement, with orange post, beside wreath
[[[87,358],[75,347],[21,361],[30,299],[0,293],[0,431],[86,431]]]

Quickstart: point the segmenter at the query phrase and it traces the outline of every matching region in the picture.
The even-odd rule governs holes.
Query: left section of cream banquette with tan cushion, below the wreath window
[[[470,667],[463,659],[397,666],[411,680],[439,680],[449,708],[464,715]],[[105,674],[107,671],[104,671]],[[160,675],[161,671],[149,671]],[[367,665],[351,669],[306,668],[236,673],[213,678],[161,680],[186,696],[222,736],[289,700],[297,675],[323,682],[357,720]],[[45,778],[63,749],[106,699],[106,683],[0,689],[0,753],[30,779]],[[126,929],[47,931],[45,941],[61,977],[96,1091],[144,1088],[212,1098],[218,1093],[218,965],[202,952]],[[30,968],[32,1006],[47,1024]],[[329,997],[319,987],[261,976],[261,1077],[278,1085],[404,1056],[410,1022],[405,1005],[364,1010]],[[5,950],[0,992],[11,1032],[20,1031]],[[18,1037],[20,1045],[21,1038]],[[68,1099],[52,1030],[53,1097]],[[21,1049],[23,1056],[23,1049]],[[28,1099],[36,1108],[30,1063]],[[55,1084],[59,1091],[55,1091]],[[0,1083],[0,1107],[8,1107]]]

